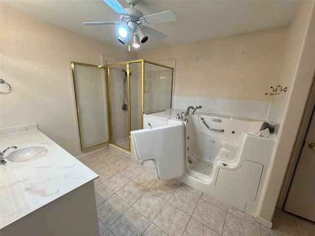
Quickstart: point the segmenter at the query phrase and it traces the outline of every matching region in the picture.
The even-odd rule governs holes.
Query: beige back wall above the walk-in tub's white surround
[[[138,59],[176,59],[175,95],[271,101],[286,27],[140,52]]]

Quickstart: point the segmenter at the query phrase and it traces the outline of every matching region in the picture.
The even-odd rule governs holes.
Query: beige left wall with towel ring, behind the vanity
[[[0,127],[37,123],[72,155],[81,154],[71,61],[100,64],[100,55],[133,60],[136,53],[39,22],[1,6]]]

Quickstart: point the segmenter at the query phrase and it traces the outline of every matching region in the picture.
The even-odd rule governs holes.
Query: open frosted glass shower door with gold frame
[[[111,142],[105,69],[72,62],[81,149]]]

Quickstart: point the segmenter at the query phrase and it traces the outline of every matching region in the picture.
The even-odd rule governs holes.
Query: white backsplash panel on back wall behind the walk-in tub
[[[175,109],[202,105],[200,111],[220,115],[267,119],[270,103],[263,101],[233,100],[209,97],[174,96]]]

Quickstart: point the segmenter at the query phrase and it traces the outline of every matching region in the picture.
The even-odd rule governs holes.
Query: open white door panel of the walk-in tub
[[[138,160],[152,160],[161,180],[184,174],[184,125],[161,126],[131,131],[132,145]]]

